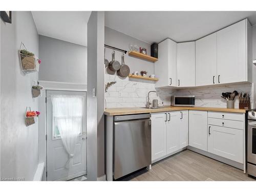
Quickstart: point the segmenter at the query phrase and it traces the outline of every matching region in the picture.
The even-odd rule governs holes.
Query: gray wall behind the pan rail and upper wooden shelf
[[[150,50],[151,50],[150,44],[147,44],[146,42],[138,40],[129,35],[125,35],[124,33],[118,32],[108,27],[105,27],[105,44],[109,46],[117,47],[119,49],[123,49],[126,51],[129,51],[129,44],[137,45],[139,47],[146,48],[148,55],[150,55]],[[111,53],[112,53],[112,50],[109,48],[106,48],[105,58],[108,59],[109,61],[111,61],[112,59]],[[115,60],[118,60],[120,63],[121,63],[121,55],[122,55],[121,52],[116,51]],[[128,53],[124,55],[124,62],[126,65],[130,67],[131,73],[133,73],[134,71],[138,71],[138,72],[147,71],[148,75],[154,74],[153,62],[148,62],[143,59],[129,56]],[[109,71],[106,70],[106,73],[109,73]]]

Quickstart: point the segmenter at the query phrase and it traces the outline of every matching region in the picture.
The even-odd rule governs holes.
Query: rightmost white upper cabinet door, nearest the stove
[[[217,32],[218,83],[246,81],[246,19]]]

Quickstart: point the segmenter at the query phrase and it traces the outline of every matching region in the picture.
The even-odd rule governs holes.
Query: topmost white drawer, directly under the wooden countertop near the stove
[[[228,120],[236,120],[236,121],[244,121],[243,113],[222,113],[222,112],[208,112],[208,117],[210,118],[218,118],[218,119],[228,119]]]

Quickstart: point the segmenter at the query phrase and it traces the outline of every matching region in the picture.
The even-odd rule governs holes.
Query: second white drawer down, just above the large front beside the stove
[[[227,119],[208,118],[208,124],[244,130],[244,121],[233,121],[233,120],[227,120]]]

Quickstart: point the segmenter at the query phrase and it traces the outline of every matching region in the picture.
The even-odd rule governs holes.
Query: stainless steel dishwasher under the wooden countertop
[[[114,117],[114,179],[151,164],[151,114]]]

